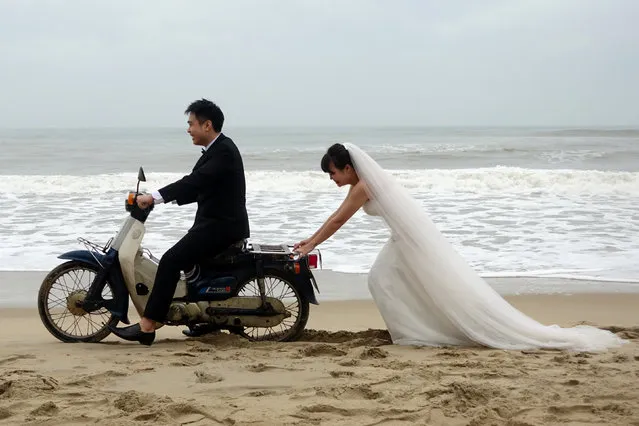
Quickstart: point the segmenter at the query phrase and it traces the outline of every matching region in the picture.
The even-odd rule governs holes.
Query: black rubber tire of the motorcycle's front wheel
[[[81,308],[73,308],[73,312],[69,310],[69,296],[81,297],[82,291],[88,291],[89,286],[98,271],[99,268],[95,265],[72,260],[55,267],[51,272],[49,272],[49,274],[47,274],[47,276],[42,281],[42,284],[40,285],[40,291],[38,292],[38,313],[40,314],[40,319],[42,320],[44,326],[58,340],[67,343],[97,343],[111,333],[108,325],[115,326],[119,322],[119,320],[115,318],[113,314],[111,314],[104,308],[91,313],[87,313]],[[89,279],[87,280],[87,282],[84,284],[78,283],[77,281],[81,281],[87,275],[87,272],[89,273]],[[91,274],[93,274],[93,278],[91,277]],[[75,282],[73,288],[69,288],[69,280],[73,279],[74,276],[76,280],[74,280]],[[61,305],[60,309],[62,309],[62,314],[54,314],[51,312],[52,307],[50,306],[51,302],[49,299],[54,297],[51,293],[52,290],[55,289],[55,286],[57,284],[61,287],[62,296],[57,298],[58,300],[56,301],[56,304]],[[103,290],[103,295],[104,292],[107,291],[107,289],[111,292],[111,294],[113,294],[113,289],[111,288],[111,283],[109,282],[107,282],[107,285]],[[82,331],[82,329],[85,328],[84,326],[78,324],[79,321],[85,320],[87,334],[80,335],[69,333],[68,329],[64,329],[62,325],[57,324],[54,319],[54,315],[63,315],[63,319],[66,319],[67,316],[70,315],[70,318],[72,319],[72,321],[74,321],[74,332],[76,329]],[[93,320],[93,318],[95,318],[95,321]],[[102,320],[101,326],[99,322],[96,322],[100,320]],[[89,332],[89,328],[94,326],[96,327],[96,330]]]

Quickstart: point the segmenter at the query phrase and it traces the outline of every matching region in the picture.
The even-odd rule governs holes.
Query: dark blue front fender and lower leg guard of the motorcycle
[[[124,277],[122,276],[122,270],[120,269],[120,262],[118,260],[118,252],[116,250],[110,249],[106,254],[89,252],[88,250],[73,250],[61,254],[58,258],[76,260],[97,267],[100,273],[96,275],[95,280],[91,283],[91,287],[103,284],[104,281],[102,280],[106,278],[109,284],[111,284],[113,300],[104,307],[123,323],[130,324],[128,317],[129,291],[124,283]],[[99,281],[102,281],[102,283]],[[96,294],[96,297],[101,298],[101,295]]]

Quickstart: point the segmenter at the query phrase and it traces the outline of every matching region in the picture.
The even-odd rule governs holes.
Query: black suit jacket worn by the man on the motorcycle
[[[212,238],[229,240],[229,244],[250,236],[242,156],[224,134],[202,154],[190,175],[159,192],[165,202],[197,202],[189,232],[210,233]]]

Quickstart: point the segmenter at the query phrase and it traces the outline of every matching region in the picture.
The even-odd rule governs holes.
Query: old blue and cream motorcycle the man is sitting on
[[[47,330],[63,342],[100,342],[120,321],[130,324],[129,299],[142,315],[153,289],[159,259],[142,246],[153,205],[137,205],[135,192],[125,199],[129,213],[104,246],[84,238],[85,250],[63,253],[66,262],[51,270],[38,293],[38,312]],[[319,304],[312,270],[321,265],[317,250],[299,257],[286,244],[237,241],[223,253],[182,271],[166,326],[194,329],[208,324],[251,341],[294,341]]]

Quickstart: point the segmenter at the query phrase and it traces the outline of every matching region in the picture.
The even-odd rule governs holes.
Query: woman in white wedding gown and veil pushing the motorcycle
[[[337,211],[294,250],[307,255],[360,207],[381,216],[391,237],[370,269],[368,287],[393,343],[600,351],[626,342],[591,326],[546,326],[515,309],[464,261],[408,191],[357,146],[331,146],[321,166],[338,186],[351,187]]]

